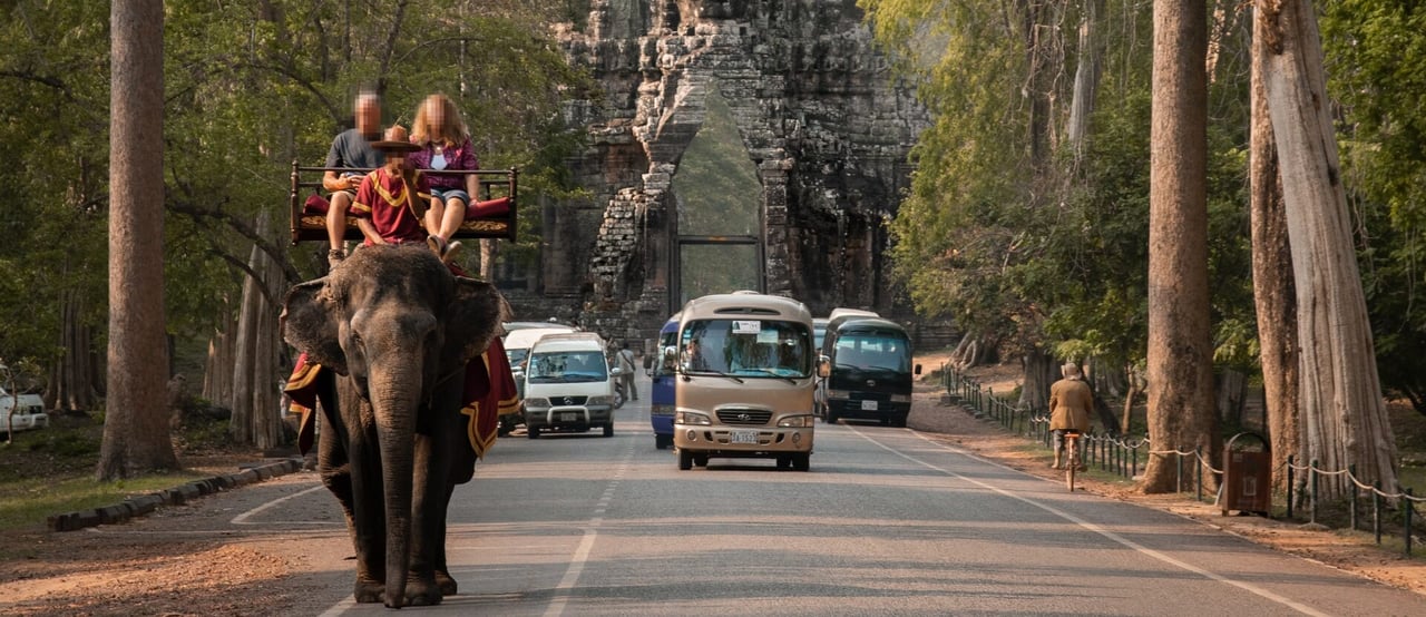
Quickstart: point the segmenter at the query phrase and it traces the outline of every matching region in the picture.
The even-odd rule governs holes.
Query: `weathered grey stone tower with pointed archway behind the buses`
[[[558,26],[603,91],[566,110],[588,130],[569,164],[592,198],[543,208],[543,296],[635,345],[690,294],[732,291],[693,289],[690,268],[749,264],[729,281],[814,315],[897,312],[886,221],[930,120],[861,16],[854,0],[592,0],[586,23]],[[749,209],[703,215],[732,232],[694,229],[700,187],[679,184],[714,111],[756,180],[732,195]]]

